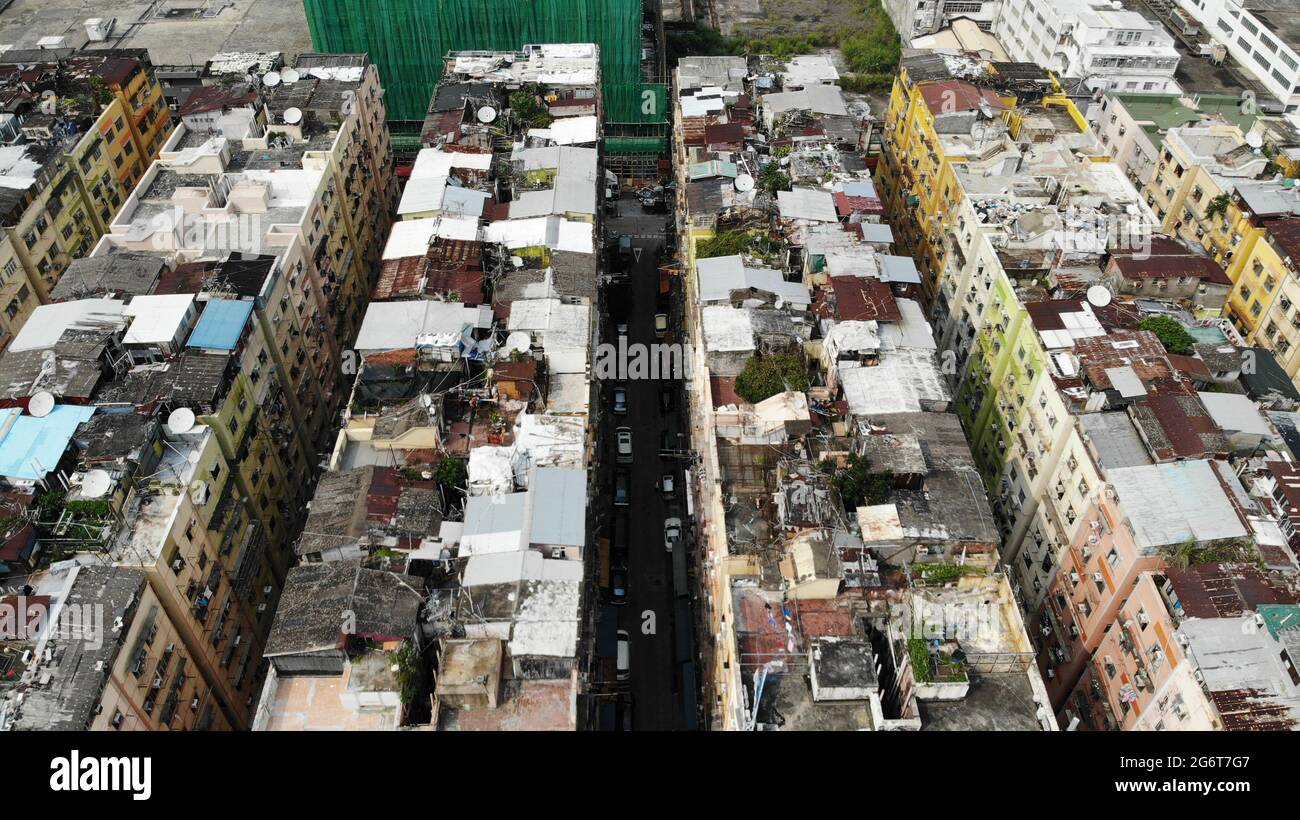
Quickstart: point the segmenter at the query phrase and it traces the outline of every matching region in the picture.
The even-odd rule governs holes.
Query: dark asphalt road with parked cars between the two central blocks
[[[664,243],[664,230],[668,214],[642,213],[637,200],[624,195],[620,203],[620,216],[607,217],[606,225],[612,237],[633,237],[633,247],[640,251],[640,259],[629,266],[629,279],[625,283],[610,286],[610,316],[604,317],[606,331],[602,339],[618,343],[615,327],[618,322],[628,325],[628,344],[654,344],[667,339],[655,339],[654,316],[660,312],[658,305],[659,273],[658,251]],[[636,256],[636,255],[634,255]],[[673,303],[679,301],[676,296]],[[672,312],[670,311],[670,316]],[[676,317],[673,317],[676,318]],[[606,478],[610,494],[601,503],[610,504],[614,521],[619,515],[629,517],[628,604],[619,608],[619,628],[630,635],[632,678],[627,687],[630,691],[633,730],[671,730],[682,728],[680,681],[677,659],[673,656],[673,589],[672,560],[663,547],[663,522],[670,516],[685,517],[681,490],[681,463],[659,457],[663,430],[685,431],[681,415],[681,382],[658,379],[607,381],[602,385],[604,400],[608,403],[615,385],[621,383],[628,390],[628,413],[624,416],[604,415],[606,430],[602,431],[606,443],[606,460],[611,465]],[[673,409],[660,408],[660,390],[670,386],[673,390]],[[606,404],[606,407],[610,407]],[[632,464],[615,461],[615,429],[632,429]],[[630,477],[630,504],[614,507],[612,473],[625,469]],[[676,498],[664,499],[659,481],[667,472],[673,473]],[[653,626],[653,630],[650,629]]]

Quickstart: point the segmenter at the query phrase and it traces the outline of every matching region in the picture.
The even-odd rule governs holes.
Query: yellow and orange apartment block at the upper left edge
[[[143,53],[9,51],[0,74],[0,329],[13,334],[104,234],[170,120]]]

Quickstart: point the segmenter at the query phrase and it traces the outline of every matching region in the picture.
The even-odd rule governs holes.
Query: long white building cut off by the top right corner
[[[1300,112],[1300,27],[1286,0],[1179,0],[1178,5],[1282,104]],[[1260,100],[1260,104],[1271,100]]]

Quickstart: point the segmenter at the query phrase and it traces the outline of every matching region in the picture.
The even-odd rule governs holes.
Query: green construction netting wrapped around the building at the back
[[[312,45],[365,52],[389,120],[424,120],[450,51],[595,43],[606,122],[663,122],[663,83],[641,82],[641,0],[304,0]]]

